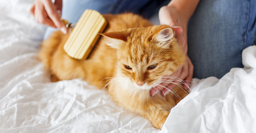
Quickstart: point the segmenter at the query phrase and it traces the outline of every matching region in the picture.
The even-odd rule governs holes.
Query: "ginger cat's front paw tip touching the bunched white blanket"
[[[162,130],[162,128],[164,126],[164,122],[166,121],[168,115],[169,115],[169,112],[161,111],[161,114],[158,115],[158,118],[152,122],[153,126],[155,128]]]

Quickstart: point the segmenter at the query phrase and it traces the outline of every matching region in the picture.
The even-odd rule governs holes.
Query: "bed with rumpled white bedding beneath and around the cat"
[[[0,3],[0,132],[256,132],[256,46],[243,51],[244,68],[193,79],[159,130],[81,79],[51,82],[33,0]]]

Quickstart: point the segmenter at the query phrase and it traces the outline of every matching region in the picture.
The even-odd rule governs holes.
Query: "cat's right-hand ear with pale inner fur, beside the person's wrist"
[[[158,42],[159,46],[167,47],[174,39],[174,31],[172,28],[164,28],[158,31],[153,39]]]

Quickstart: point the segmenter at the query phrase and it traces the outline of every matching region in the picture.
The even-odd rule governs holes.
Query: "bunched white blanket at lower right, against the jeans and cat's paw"
[[[256,132],[256,46],[244,49],[243,64],[220,80],[201,80],[161,132]]]

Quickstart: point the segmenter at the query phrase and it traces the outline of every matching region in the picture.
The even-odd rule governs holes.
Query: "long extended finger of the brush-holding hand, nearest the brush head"
[[[62,23],[62,21],[60,20],[59,13],[55,9],[52,2],[51,1],[43,1],[43,2],[45,5],[47,5],[47,6],[45,6],[45,10],[46,10],[47,14],[49,15],[50,19],[55,24],[55,26],[58,27],[63,32],[63,34],[67,34],[67,29],[64,26],[64,24]]]

